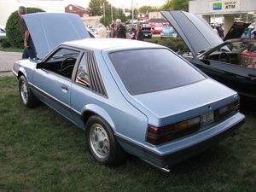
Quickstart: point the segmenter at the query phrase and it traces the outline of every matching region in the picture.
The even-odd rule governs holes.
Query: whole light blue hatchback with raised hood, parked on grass
[[[168,171],[245,119],[234,90],[166,47],[89,38],[77,15],[24,19],[38,59],[15,62],[21,102],[44,102],[84,129],[90,154],[103,164],[133,154]]]

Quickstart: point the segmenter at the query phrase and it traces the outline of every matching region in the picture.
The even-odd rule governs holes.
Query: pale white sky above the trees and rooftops
[[[46,12],[64,12],[68,4],[76,4],[88,8],[90,0],[0,0],[0,26],[5,26],[9,15],[21,5],[25,7],[38,7]],[[132,0],[108,0],[116,8],[131,8]],[[135,8],[143,5],[161,6],[166,0],[133,0]]]

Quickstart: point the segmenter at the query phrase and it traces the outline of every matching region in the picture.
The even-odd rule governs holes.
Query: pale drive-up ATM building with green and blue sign
[[[224,32],[230,30],[235,15],[253,14],[256,11],[255,0],[193,0],[189,1],[189,12],[202,15],[210,23],[212,16],[224,18]]]

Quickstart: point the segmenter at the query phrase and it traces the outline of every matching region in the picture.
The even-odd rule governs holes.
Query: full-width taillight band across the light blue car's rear
[[[189,135],[192,132],[198,131],[201,126],[208,125],[219,120],[229,117],[231,114],[238,112],[240,102],[232,102],[223,108],[218,108],[212,111],[212,115],[203,114],[193,119],[184,120],[177,124],[167,125],[163,127],[155,127],[148,125],[146,141],[157,145],[172,141],[178,137]],[[214,115],[213,115],[214,114]]]

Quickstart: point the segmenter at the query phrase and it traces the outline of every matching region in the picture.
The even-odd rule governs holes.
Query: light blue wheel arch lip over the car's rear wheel
[[[114,132],[116,131],[115,125],[113,124],[113,119],[111,119],[111,117],[104,108],[96,104],[88,104],[84,106],[82,113],[86,112],[96,113],[97,115],[102,117],[102,119],[105,120],[108,123],[108,125],[110,125]]]

